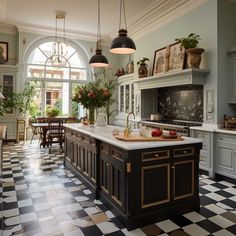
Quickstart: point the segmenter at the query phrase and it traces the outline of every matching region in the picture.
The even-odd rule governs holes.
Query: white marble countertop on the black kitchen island
[[[107,126],[90,127],[78,123],[72,123],[72,124],[64,124],[64,127],[87,134],[93,138],[96,138],[98,140],[104,141],[106,143],[112,144],[125,150],[136,150],[145,148],[202,143],[202,140],[190,137],[183,137],[184,138],[183,141],[125,142],[116,139],[112,135],[112,130],[114,130],[114,128],[118,128],[120,131],[122,131],[120,127],[116,126],[107,125]]]

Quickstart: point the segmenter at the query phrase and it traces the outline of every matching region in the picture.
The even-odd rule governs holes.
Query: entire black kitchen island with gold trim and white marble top
[[[201,140],[124,142],[111,126],[64,127],[66,167],[128,230],[199,209]]]

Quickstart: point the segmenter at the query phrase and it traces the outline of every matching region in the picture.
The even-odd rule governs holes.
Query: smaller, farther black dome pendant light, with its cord
[[[104,55],[102,55],[101,49],[100,0],[98,0],[97,48],[95,51],[95,55],[90,58],[89,64],[92,67],[108,66],[108,60]]]

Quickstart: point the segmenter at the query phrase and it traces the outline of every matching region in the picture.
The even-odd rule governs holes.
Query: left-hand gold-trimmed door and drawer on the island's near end
[[[157,208],[170,202],[170,151],[167,149],[150,150],[142,152],[140,170],[140,196],[139,205],[141,211]],[[136,179],[137,181],[137,179]],[[136,182],[137,185],[138,182]]]

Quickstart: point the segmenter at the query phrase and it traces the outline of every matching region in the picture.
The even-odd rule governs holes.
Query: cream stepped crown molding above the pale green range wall
[[[209,0],[156,0],[128,23],[129,36],[134,40],[149,34]]]

